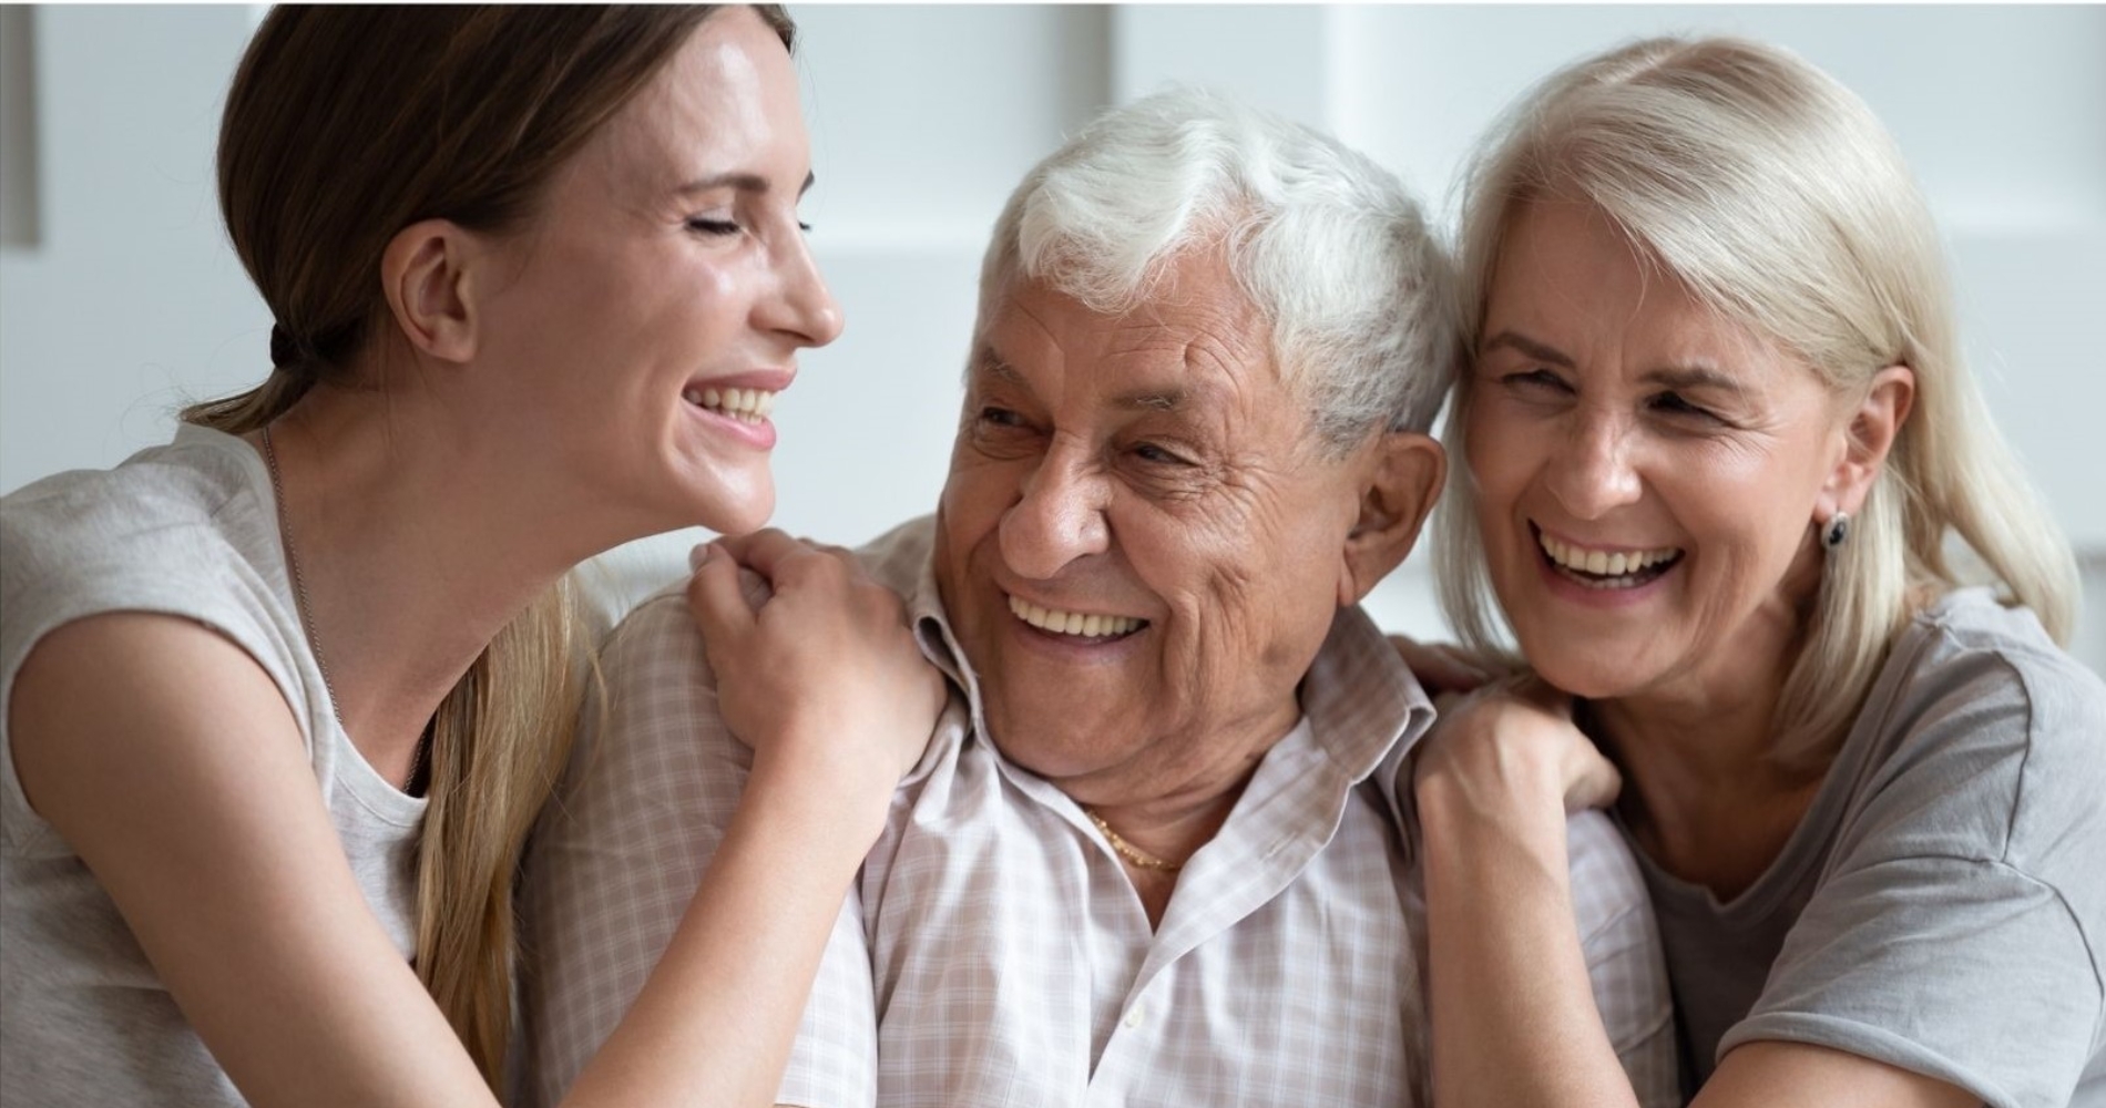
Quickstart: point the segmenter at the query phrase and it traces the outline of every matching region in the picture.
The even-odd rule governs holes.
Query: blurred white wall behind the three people
[[[1554,65],[1660,32],[1801,51],[1908,152],[1999,423],[2106,596],[2102,6],[796,6],[819,185],[804,213],[847,335],[777,407],[775,522],[861,541],[929,510],[984,236],[1104,105],[1213,84],[1327,126],[1449,213],[1493,114]],[[259,379],[270,318],[213,200],[219,101],[255,8],[0,8],[0,491],[162,442]],[[676,573],[697,535],[611,558]],[[1371,607],[1441,634],[1415,556]],[[2106,670],[2106,613],[2079,653]]]

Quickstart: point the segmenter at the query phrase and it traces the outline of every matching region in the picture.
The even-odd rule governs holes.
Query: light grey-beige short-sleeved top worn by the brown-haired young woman
[[[0,499],[0,1102],[244,1104],[15,777],[15,674],[44,634],[107,611],[196,619],[278,682],[352,874],[404,958],[423,800],[379,777],[337,727],[286,583],[270,472],[246,442],[185,426],[116,470],[57,474]],[[242,965],[230,958],[223,973]]]

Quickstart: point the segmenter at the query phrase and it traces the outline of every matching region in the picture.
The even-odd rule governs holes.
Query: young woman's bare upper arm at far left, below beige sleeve
[[[251,1104],[493,1104],[240,647],[168,615],[80,619],[29,653],[8,714],[32,807]]]

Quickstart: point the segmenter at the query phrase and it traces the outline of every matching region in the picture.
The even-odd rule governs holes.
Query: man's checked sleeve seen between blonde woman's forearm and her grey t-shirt
[[[1674,1001],[1645,874],[1615,824],[1598,811],[1573,815],[1565,840],[1580,950],[1603,1028],[1638,1104],[1678,1106]]]

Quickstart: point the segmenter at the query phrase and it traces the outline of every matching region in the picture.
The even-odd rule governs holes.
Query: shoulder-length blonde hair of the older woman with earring
[[[1596,206],[1651,263],[1794,352],[1836,396],[1864,396],[1889,364],[1914,373],[1914,409],[1849,541],[1828,552],[1775,708],[1780,758],[1830,756],[1914,609],[1971,583],[1948,539],[2005,602],[2068,642],[2074,554],[1961,360],[1929,206],[1849,88],[1788,51],[1731,38],[1655,38],[1552,74],[1502,118],[1466,179],[1457,310],[1472,348],[1502,236],[1531,198]],[[1466,457],[1468,404],[1464,373],[1449,457]],[[1466,466],[1449,472],[1434,552],[1443,609],[1466,642],[1499,649],[1476,489]]]

